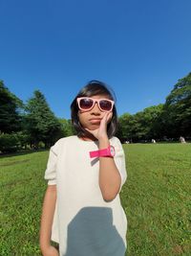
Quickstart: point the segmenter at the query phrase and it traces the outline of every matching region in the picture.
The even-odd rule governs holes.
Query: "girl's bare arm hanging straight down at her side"
[[[58,251],[51,245],[55,201],[56,185],[49,185],[43,202],[40,226],[40,248],[44,256],[58,256]]]

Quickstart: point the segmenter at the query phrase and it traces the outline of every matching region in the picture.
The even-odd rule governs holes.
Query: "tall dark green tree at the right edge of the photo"
[[[163,116],[168,135],[191,136],[191,73],[180,79],[167,96]]]

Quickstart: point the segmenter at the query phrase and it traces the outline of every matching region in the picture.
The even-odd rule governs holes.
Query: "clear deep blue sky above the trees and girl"
[[[165,102],[191,72],[190,0],[0,0],[0,80],[24,102],[39,89],[54,114],[90,80],[117,112]]]

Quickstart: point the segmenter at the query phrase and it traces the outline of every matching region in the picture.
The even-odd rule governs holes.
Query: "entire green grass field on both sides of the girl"
[[[131,144],[124,151],[126,255],[191,255],[191,144]],[[41,255],[38,232],[47,159],[48,151],[0,156],[1,256]]]

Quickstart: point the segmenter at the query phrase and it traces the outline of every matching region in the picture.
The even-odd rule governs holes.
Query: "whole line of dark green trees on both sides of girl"
[[[0,81],[1,152],[49,148],[72,134],[71,120],[57,118],[39,90],[23,103]],[[191,73],[174,85],[164,104],[118,117],[117,137],[122,142],[178,140],[180,136],[191,138]]]

